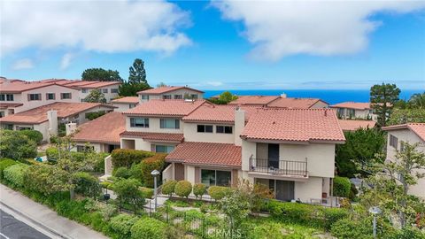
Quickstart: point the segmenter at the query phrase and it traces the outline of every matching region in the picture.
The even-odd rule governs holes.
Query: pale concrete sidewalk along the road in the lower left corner
[[[14,212],[32,220],[40,227],[44,227],[57,238],[108,238],[89,227],[82,226],[73,220],[68,220],[47,206],[35,203],[21,193],[0,184],[1,207],[8,207]]]

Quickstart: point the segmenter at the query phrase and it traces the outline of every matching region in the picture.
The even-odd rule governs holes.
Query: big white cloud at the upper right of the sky
[[[224,19],[242,21],[243,36],[254,45],[251,57],[349,55],[367,48],[368,36],[382,22],[375,13],[407,13],[422,1],[217,1]]]

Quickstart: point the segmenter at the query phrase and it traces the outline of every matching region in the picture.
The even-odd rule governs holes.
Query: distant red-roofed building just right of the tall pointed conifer
[[[137,92],[140,102],[144,103],[152,99],[203,99],[204,91],[191,89],[183,86],[164,86],[154,89],[146,89]]]

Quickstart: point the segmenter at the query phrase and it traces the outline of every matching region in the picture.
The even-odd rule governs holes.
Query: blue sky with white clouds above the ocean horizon
[[[0,75],[80,79],[135,58],[151,86],[425,89],[425,1],[0,2]]]

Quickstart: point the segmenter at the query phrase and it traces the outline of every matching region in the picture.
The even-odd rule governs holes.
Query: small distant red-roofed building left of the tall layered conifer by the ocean
[[[376,120],[370,103],[344,102],[330,105],[330,108],[336,109],[336,115],[340,119],[370,119]]]

